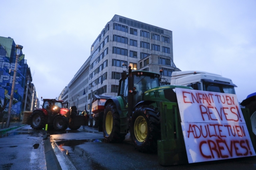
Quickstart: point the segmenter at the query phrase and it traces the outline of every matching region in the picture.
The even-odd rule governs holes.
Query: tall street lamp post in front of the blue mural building
[[[16,53],[15,68],[14,68],[14,74],[13,74],[13,80],[12,80],[12,91],[11,91],[11,97],[10,97],[10,103],[9,103],[9,109],[8,109],[7,127],[9,127],[9,125],[10,125],[10,117],[11,117],[11,111],[12,111],[14,87],[15,87],[15,83],[16,83],[18,61],[19,61],[19,57],[20,57],[20,51],[22,50],[23,46],[16,45],[15,47],[17,48],[17,53]]]

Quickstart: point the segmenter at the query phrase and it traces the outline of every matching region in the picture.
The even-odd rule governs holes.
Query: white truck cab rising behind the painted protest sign
[[[236,94],[234,87],[237,87],[231,79],[206,71],[174,71],[170,84],[189,86],[195,90],[230,94]]]

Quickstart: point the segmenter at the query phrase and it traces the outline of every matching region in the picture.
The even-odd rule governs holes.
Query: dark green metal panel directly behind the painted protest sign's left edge
[[[157,141],[159,164],[166,166],[188,163],[178,103],[160,102],[160,113],[162,140]]]

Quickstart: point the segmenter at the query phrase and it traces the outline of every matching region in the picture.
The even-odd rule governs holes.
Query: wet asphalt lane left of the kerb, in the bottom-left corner
[[[0,134],[0,170],[46,170],[42,132],[26,125]]]

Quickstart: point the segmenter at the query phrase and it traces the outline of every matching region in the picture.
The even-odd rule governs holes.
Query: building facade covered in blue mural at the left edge
[[[15,42],[12,38],[0,37],[0,118],[8,113],[12,80],[16,60]],[[31,73],[25,55],[20,52],[18,70],[14,88],[14,99],[12,104],[12,117],[19,117],[25,110],[30,111],[32,103]],[[28,86],[27,101],[25,102],[26,87]],[[26,103],[26,106],[24,104]]]

